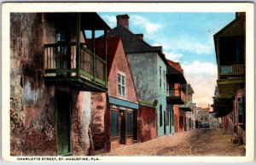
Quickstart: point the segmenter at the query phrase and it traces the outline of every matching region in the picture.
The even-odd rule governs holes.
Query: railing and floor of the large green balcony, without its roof
[[[106,92],[106,65],[106,60],[90,52],[81,43],[61,42],[44,45],[46,83],[79,88],[82,91]]]

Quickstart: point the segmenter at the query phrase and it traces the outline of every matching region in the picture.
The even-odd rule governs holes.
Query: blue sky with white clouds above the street
[[[194,89],[197,106],[212,105],[217,85],[213,35],[235,19],[235,13],[98,13],[114,28],[116,15],[128,14],[130,31],[143,33],[144,41],[162,46],[166,59],[179,62]]]

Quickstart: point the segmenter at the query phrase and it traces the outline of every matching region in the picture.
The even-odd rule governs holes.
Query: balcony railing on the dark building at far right
[[[219,65],[219,75],[242,75],[245,73],[244,65]]]

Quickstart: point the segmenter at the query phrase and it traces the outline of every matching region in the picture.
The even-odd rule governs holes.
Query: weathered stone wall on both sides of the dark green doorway
[[[55,91],[44,83],[44,43],[55,43],[55,25],[45,14],[10,15],[10,152],[57,155]],[[75,156],[88,155],[90,93],[72,94],[71,136]]]

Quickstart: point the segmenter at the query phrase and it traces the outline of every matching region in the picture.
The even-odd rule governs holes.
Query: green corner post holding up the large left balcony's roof
[[[80,13],[77,14],[76,18],[76,65],[77,65],[77,77],[79,77],[80,71]]]

